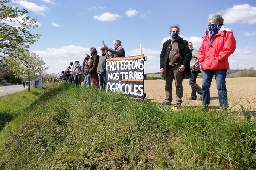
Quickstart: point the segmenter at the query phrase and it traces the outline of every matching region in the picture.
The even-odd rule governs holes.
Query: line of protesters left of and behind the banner
[[[95,47],[90,48],[90,55],[86,54],[82,64],[76,60],[74,63],[70,62],[70,65],[58,75],[56,82],[66,81],[68,83],[75,83],[76,86],[81,85],[81,77],[84,75],[83,85],[90,88],[91,85],[95,85],[98,89],[106,89],[106,59],[125,57],[125,50],[121,46],[120,40],[113,41],[113,49],[104,45],[101,50],[101,54]],[[108,54],[110,51],[110,54]],[[49,80],[49,82],[55,82]],[[48,82],[48,79],[47,79]]]

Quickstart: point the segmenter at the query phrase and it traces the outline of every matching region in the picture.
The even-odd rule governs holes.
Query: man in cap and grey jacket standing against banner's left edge
[[[99,57],[99,64],[97,67],[97,73],[99,73],[99,81],[101,89],[106,89],[106,59],[107,55],[105,53],[104,47],[100,48],[102,55]]]

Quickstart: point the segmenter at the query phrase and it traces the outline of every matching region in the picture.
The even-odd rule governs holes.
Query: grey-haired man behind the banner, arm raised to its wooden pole
[[[122,48],[120,40],[114,40],[113,41],[113,48],[108,48],[106,45],[104,45],[104,49],[111,52],[110,58],[116,58],[116,57],[125,57],[125,49]]]

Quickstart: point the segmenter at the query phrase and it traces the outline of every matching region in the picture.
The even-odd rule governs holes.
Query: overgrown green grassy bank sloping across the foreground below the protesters
[[[255,122],[61,82],[0,133],[0,169],[255,169]]]

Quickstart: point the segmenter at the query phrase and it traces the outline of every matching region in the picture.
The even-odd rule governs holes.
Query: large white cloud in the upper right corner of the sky
[[[228,8],[222,14],[224,23],[256,23],[256,7],[249,4],[234,5],[232,8]]]

